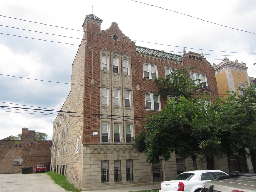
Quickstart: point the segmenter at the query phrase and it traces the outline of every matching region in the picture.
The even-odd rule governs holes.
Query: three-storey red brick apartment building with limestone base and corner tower
[[[71,90],[53,123],[51,170],[67,175],[82,190],[150,185],[193,170],[191,159],[146,163],[133,147],[145,117],[165,106],[155,96],[153,79],[171,69],[196,66],[192,79],[202,79],[195,91],[218,96],[214,68],[203,55],[184,50],[176,55],[136,46],[113,22],[101,30],[102,19],[87,15],[83,40],[72,64]],[[199,82],[196,82],[199,83]],[[199,169],[228,171],[225,159],[206,159]],[[199,161],[199,159],[198,159]]]

